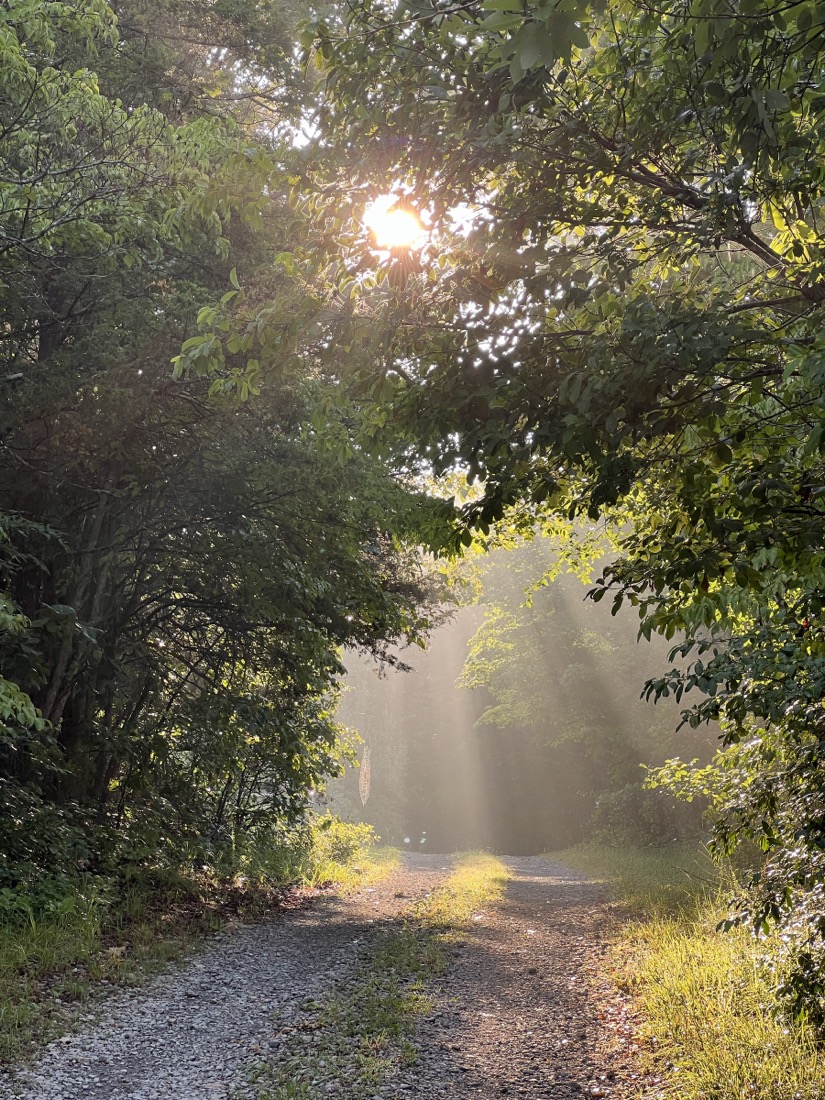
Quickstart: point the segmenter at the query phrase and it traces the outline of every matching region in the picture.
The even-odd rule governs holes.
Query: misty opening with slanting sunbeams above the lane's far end
[[[672,700],[640,698],[671,646],[638,642],[635,612],[613,616],[569,574],[528,606],[525,581],[546,557],[540,542],[491,556],[481,602],[455,609],[425,651],[396,653],[408,671],[346,654],[338,718],[361,740],[328,791],[336,813],[430,851],[698,829],[697,803],[644,787],[642,765],[705,760],[715,744],[713,728],[676,732]]]

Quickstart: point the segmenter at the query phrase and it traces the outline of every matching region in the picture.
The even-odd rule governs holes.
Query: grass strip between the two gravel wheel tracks
[[[330,1091],[371,1100],[399,1068],[414,1063],[413,1034],[435,1007],[428,987],[447,969],[450,943],[470,926],[480,905],[503,894],[507,878],[493,856],[457,856],[447,881],[316,1005],[311,1023],[294,1033],[286,1056],[258,1068],[258,1100],[319,1100]]]

